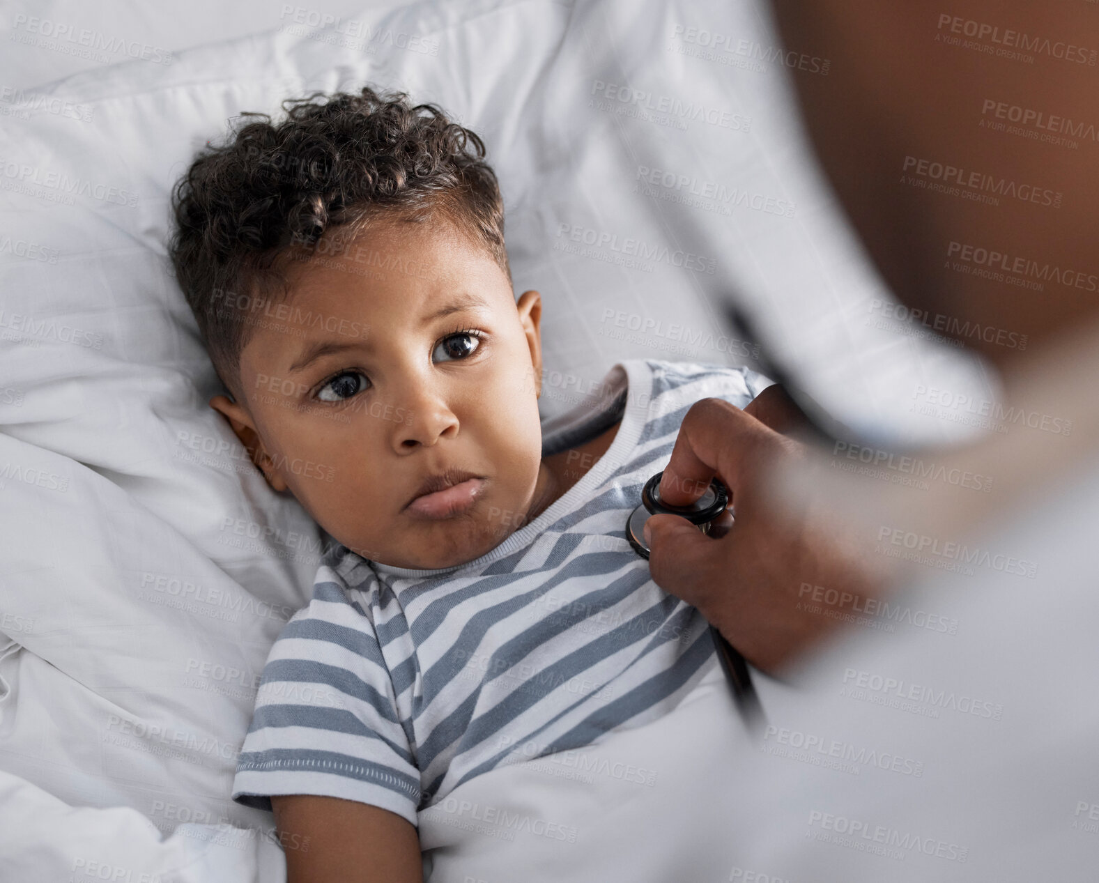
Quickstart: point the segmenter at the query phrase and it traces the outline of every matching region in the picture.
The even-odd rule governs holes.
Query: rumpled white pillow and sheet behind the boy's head
[[[744,69],[702,45],[702,31],[776,45],[757,4],[390,5],[320,30],[315,8],[279,4],[256,33],[218,42],[208,26],[207,45],[168,64],[97,64],[4,93],[0,854],[12,879],[281,873],[270,816],[230,802],[229,786],[267,650],[323,550],[207,407],[220,388],[164,246],[169,187],[227,118],[369,81],[482,134],[517,290],[545,298],[546,417],[619,358],[741,363],[717,307],[732,293],[854,426],[940,435],[951,424],[910,413],[910,391],[983,388],[956,355],[868,323],[884,295],[806,158],[786,68]],[[151,42],[125,18],[136,5],[111,8],[125,27],[71,9],[44,3],[37,23],[23,10],[5,36],[58,57],[71,45],[57,24],[77,46],[86,24]],[[660,111],[690,102],[701,115]],[[691,203],[719,186],[747,205]],[[766,208],[779,203],[793,217]],[[636,243],[651,256],[631,265]],[[218,826],[237,834],[215,838]]]

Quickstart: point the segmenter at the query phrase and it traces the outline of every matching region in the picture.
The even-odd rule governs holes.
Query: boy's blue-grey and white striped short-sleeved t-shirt
[[[429,571],[336,543],[271,647],[233,799],[343,797],[415,825],[473,776],[675,708],[717,664],[713,643],[701,614],[652,581],[625,520],[693,402],[743,407],[768,384],[745,368],[621,362],[603,407],[543,427],[550,456],[621,419],[610,448],[492,551]]]

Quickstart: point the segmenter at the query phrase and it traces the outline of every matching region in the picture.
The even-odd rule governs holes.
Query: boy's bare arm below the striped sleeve
[[[287,883],[423,883],[415,828],[380,806],[273,795]]]

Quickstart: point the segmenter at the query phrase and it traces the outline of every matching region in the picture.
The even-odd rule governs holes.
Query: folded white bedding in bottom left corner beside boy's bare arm
[[[249,831],[187,824],[162,839],[132,807],[73,807],[2,771],[0,856],[21,883],[286,883],[281,848]]]

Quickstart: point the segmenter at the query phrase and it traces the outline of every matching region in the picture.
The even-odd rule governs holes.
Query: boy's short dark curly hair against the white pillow
[[[319,98],[326,98],[318,101]],[[379,216],[441,218],[485,245],[511,280],[503,200],[485,144],[404,92],[314,92],[206,148],[171,195],[168,255],[222,383],[240,397],[248,312],[289,295],[291,260],[338,252]],[[337,232],[338,231],[338,232]]]

